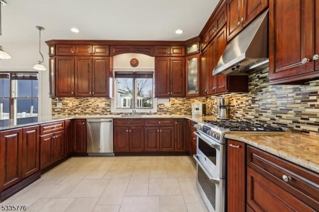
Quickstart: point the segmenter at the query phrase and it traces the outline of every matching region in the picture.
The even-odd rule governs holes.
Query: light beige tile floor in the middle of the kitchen
[[[72,157],[2,205],[27,212],[207,212],[188,156]]]

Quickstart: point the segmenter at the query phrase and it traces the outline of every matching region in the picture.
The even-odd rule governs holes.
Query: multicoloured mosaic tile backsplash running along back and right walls
[[[234,119],[286,126],[319,135],[319,81],[306,85],[267,85],[268,69],[249,76],[249,93],[228,94],[230,116]],[[191,114],[191,103],[206,102],[207,115],[216,116],[216,97],[171,98],[159,104],[157,113]],[[61,102],[62,107],[56,107]],[[102,106],[102,107],[100,107]],[[111,113],[111,99],[52,99],[52,115],[103,115]]]

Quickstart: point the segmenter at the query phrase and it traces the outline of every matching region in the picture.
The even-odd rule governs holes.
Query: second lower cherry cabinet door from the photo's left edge
[[[22,178],[26,178],[40,170],[39,126],[22,129]]]

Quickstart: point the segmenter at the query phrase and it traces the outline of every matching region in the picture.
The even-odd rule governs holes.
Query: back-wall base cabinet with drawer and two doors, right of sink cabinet
[[[174,120],[145,119],[145,151],[174,151]]]

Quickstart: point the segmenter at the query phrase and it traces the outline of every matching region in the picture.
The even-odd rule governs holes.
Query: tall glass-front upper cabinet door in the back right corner
[[[186,96],[199,96],[199,54],[186,57]]]

